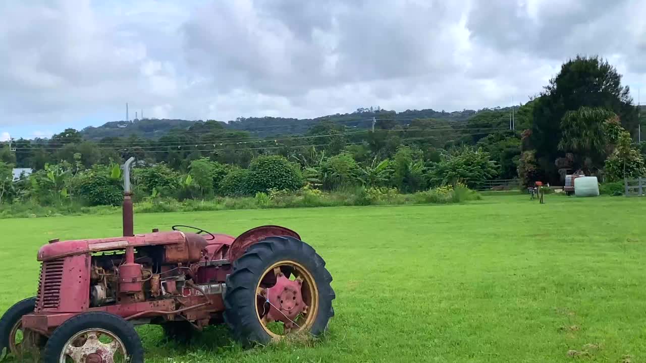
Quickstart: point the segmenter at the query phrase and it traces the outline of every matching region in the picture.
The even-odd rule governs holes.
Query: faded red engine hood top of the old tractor
[[[113,251],[125,247],[138,247],[143,245],[183,244],[186,236],[182,231],[154,232],[135,234],[129,237],[97,238],[90,240],[51,240],[38,250],[38,261],[53,260],[79,253],[94,253],[99,251]]]

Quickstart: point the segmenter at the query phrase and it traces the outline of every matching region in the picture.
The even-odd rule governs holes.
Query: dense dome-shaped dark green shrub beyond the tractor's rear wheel
[[[303,186],[303,176],[297,165],[282,156],[259,156],[249,165],[246,183],[249,194],[269,189],[295,191]]]

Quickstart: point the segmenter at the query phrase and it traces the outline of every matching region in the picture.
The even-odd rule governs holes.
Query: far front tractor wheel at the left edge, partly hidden
[[[0,357],[3,350],[17,358],[36,353],[45,337],[35,331],[23,329],[23,315],[34,312],[36,298],[26,298],[10,307],[0,319]]]

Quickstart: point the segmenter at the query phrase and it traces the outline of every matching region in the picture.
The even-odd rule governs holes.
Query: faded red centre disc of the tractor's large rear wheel
[[[303,302],[301,287],[300,280],[289,280],[282,274],[276,277],[276,284],[265,291],[265,297],[271,304],[267,313],[270,320],[278,320],[284,322],[286,327],[291,327],[293,320],[307,307]]]

